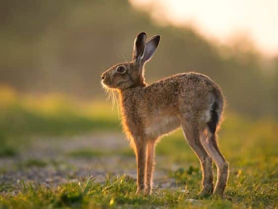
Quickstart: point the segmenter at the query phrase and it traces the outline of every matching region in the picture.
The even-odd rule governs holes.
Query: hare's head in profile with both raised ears
[[[132,61],[114,65],[101,75],[102,84],[112,89],[127,89],[145,86],[143,68],[154,55],[160,36],[153,36],[146,40],[146,33],[140,33],[133,48]]]

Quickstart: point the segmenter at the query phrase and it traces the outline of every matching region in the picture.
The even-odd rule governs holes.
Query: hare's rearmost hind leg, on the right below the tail
[[[217,182],[213,194],[223,196],[229,175],[229,164],[220,153],[216,142],[216,133],[201,134],[202,144],[207,153],[212,157],[217,167]]]

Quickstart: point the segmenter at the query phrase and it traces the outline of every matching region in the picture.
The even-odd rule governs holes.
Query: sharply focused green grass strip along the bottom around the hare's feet
[[[192,174],[192,173],[191,173]],[[189,175],[191,175],[189,174]],[[240,177],[241,179],[241,177]],[[239,179],[239,181],[241,181]],[[90,177],[87,181],[70,182],[57,188],[46,188],[20,181],[20,192],[0,196],[1,208],[275,208],[277,207],[277,185],[268,188],[263,183],[247,181],[244,189],[227,189],[226,197],[198,199],[198,188],[183,190],[159,190],[151,196],[135,195],[135,180],[119,176],[105,183],[96,183]],[[192,200],[194,199],[194,200]]]

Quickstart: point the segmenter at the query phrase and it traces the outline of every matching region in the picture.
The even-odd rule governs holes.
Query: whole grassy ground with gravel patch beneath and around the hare
[[[225,114],[218,143],[230,178],[222,199],[199,199],[199,162],[180,130],[157,146],[153,194],[138,196],[117,111],[54,106],[0,108],[0,208],[278,208],[275,120]]]

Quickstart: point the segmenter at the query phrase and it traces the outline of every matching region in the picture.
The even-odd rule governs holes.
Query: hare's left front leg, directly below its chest
[[[146,170],[146,151],[147,143],[135,143],[136,161],[137,161],[137,191],[136,194],[142,193],[145,189],[145,170]]]

